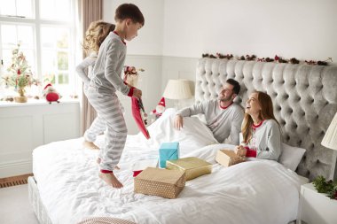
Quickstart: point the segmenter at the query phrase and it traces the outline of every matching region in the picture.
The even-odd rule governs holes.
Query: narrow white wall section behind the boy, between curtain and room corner
[[[127,43],[126,65],[144,68],[140,73],[138,88],[143,91],[145,110],[151,112],[161,99],[161,55],[163,45],[164,0],[104,0],[103,19],[114,23],[114,12],[123,3],[137,4],[145,17],[145,26],[138,31],[138,36]],[[129,97],[120,96],[125,108],[125,120],[129,134],[138,132],[131,116]]]

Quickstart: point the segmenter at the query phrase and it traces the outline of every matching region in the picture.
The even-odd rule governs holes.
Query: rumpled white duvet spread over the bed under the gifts
[[[275,161],[253,160],[224,168],[216,164],[216,151],[232,148],[216,143],[196,118],[174,130],[171,113],[149,127],[152,139],[129,135],[120,167],[115,172],[122,189],[106,186],[98,178],[98,151],[82,149],[82,138],[38,147],[33,171],[40,196],[54,224],[72,224],[94,216],[143,223],[275,223],[296,219],[300,179]],[[212,174],[186,182],[176,199],[133,192],[132,164],[157,158],[162,142],[178,141],[182,158],[198,157],[214,164]],[[98,137],[102,145],[104,136]]]

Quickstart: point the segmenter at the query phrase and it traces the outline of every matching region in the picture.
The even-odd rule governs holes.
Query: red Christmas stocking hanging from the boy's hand
[[[144,119],[145,117],[145,110],[143,107],[142,100],[138,100],[136,97],[131,97],[131,109],[132,109],[132,116],[134,120],[136,121],[137,127],[139,130],[145,135],[146,139],[150,138],[150,134],[148,130],[146,129],[146,120]]]

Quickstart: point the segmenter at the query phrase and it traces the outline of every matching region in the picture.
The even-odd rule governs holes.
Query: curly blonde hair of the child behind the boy
[[[106,39],[106,36],[109,35],[111,31],[114,31],[114,27],[114,24],[102,20],[91,22],[85,32],[82,45],[86,55],[89,55],[92,51],[98,52],[99,47]]]

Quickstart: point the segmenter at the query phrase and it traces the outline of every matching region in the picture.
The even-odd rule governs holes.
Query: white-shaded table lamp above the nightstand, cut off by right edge
[[[334,114],[333,121],[331,121],[330,126],[323,137],[322,145],[326,148],[333,150],[333,164],[330,172],[330,179],[337,180],[337,112]]]

